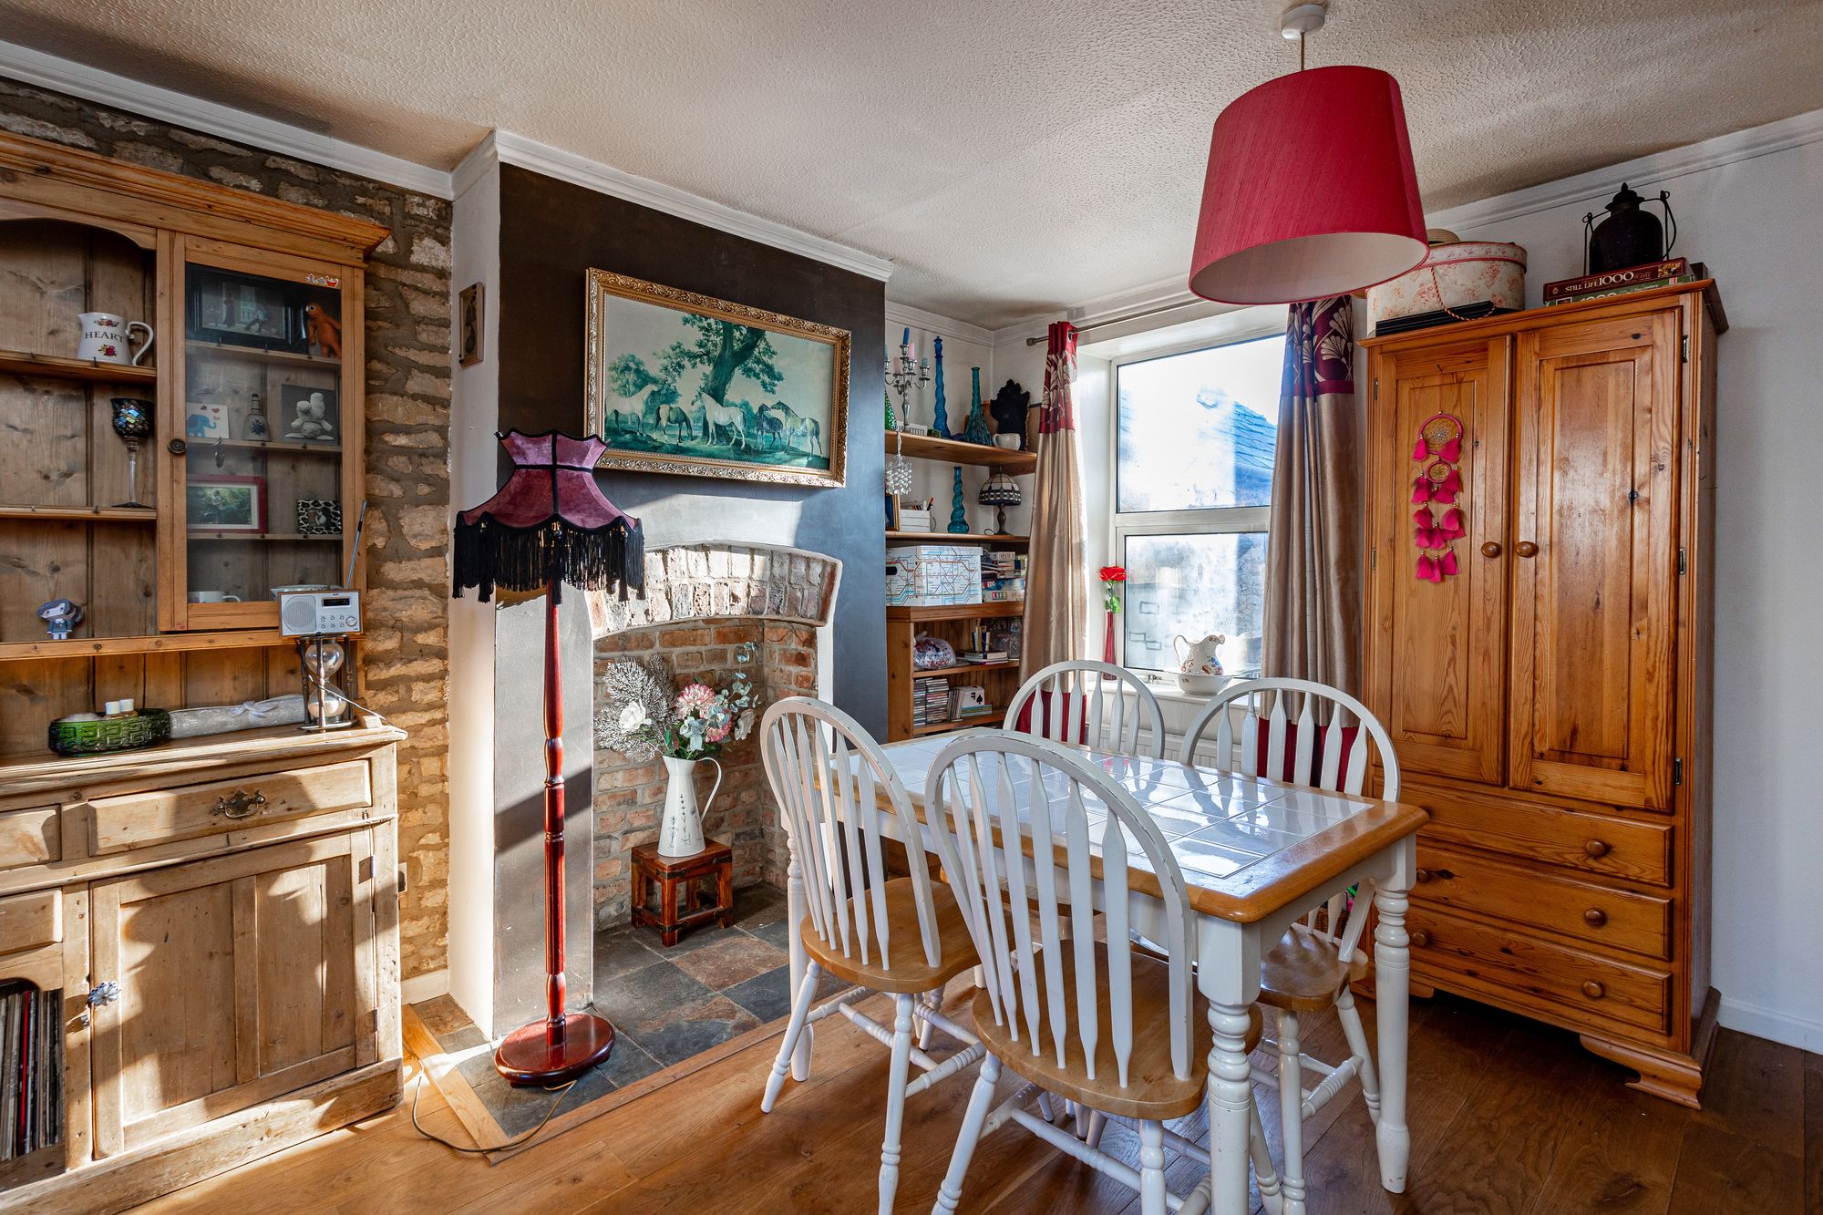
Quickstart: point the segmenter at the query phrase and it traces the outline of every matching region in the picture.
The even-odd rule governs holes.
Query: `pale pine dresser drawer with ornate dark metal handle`
[[[237,781],[97,797],[89,803],[89,850],[106,856],[255,823],[352,810],[372,801],[372,779],[365,759]]]

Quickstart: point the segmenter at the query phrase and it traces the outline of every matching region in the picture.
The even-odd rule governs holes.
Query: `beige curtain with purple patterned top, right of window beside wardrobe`
[[[1354,305],[1291,305],[1265,545],[1262,673],[1360,695],[1362,445]]]

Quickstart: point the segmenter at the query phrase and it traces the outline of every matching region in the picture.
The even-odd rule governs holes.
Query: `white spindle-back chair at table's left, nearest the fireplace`
[[[899,1188],[906,1098],[983,1056],[975,1036],[939,1011],[944,985],[973,969],[975,947],[955,898],[932,883],[922,863],[919,821],[904,784],[879,742],[853,717],[808,697],[778,701],[760,721],[760,757],[789,832],[791,881],[804,883],[809,910],[793,925],[809,965],[778,1044],[778,1060],[766,1076],[760,1109],[771,1113],[798,1040],[826,1016],[840,1012],[890,1047],[881,1142],[881,1211],[886,1213]],[[910,878],[886,876],[877,814],[881,794],[910,841]],[[811,1009],[824,971],[866,991]],[[891,1029],[855,1009],[873,992],[891,994]],[[930,1027],[968,1045],[937,1062],[926,1054]],[[910,1078],[913,1064],[922,1071],[917,1080]]]

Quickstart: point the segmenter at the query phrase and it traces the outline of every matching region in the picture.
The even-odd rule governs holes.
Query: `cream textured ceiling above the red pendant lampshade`
[[[1282,0],[0,0],[0,36],[454,166],[489,128],[891,257],[977,325],[1185,270]],[[1823,108],[1823,0],[1334,0],[1435,210]]]

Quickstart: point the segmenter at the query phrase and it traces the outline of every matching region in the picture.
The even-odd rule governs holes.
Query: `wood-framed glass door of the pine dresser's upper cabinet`
[[[354,283],[341,266],[186,244],[184,626],[273,628],[275,591],[339,587],[361,469]]]

